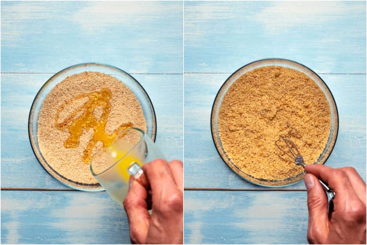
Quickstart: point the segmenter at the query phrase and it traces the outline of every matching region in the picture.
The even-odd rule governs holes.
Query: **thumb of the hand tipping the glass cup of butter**
[[[123,205],[128,217],[130,226],[130,238],[135,244],[145,243],[148,234],[150,216],[146,199],[148,192],[134,180],[133,176],[129,179],[129,191],[124,199]]]

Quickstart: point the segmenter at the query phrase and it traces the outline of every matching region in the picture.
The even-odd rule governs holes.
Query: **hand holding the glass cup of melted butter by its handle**
[[[131,242],[183,244],[183,163],[157,159],[142,168],[139,180],[130,176],[123,203]]]

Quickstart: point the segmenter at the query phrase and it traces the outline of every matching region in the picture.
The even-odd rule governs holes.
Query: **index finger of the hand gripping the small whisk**
[[[342,169],[333,169],[325,165],[310,164],[306,165],[305,170],[307,173],[312,173],[317,178],[325,181],[329,187],[335,191],[335,199],[356,199],[355,191],[350,184],[348,175]]]

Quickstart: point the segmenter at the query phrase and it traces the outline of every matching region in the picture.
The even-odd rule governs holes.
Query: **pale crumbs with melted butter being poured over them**
[[[45,98],[38,119],[40,151],[56,172],[84,184],[93,155],[128,127],[146,131],[143,110],[120,80],[100,72],[65,78]],[[102,142],[103,141],[103,142]]]

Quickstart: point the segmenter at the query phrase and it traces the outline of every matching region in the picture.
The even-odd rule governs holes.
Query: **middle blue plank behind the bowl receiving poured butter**
[[[51,74],[1,74],[1,187],[67,188],[50,176],[32,152],[28,115]],[[156,143],[167,160],[183,159],[182,75],[134,75],[152,100]]]

